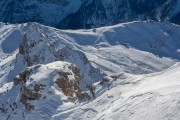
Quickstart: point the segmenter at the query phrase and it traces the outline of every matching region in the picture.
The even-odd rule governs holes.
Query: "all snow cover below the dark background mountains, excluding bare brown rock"
[[[31,111],[25,110],[20,102],[20,87],[12,82],[28,66],[24,55],[19,53],[24,34],[28,36],[28,44],[39,41],[38,45],[27,48],[34,50],[29,58],[34,55],[45,58],[36,61],[41,69],[30,77],[39,83],[50,83],[47,89],[53,93],[43,92],[46,98],[32,101],[35,108]],[[65,63],[59,59],[55,62],[50,45],[53,45],[52,53],[71,48],[68,51],[71,57],[64,59]],[[89,30],[58,30],[37,23],[1,23],[0,119],[179,120],[179,49],[180,27],[170,23],[130,22]],[[80,57],[76,57],[78,55]],[[87,57],[86,64],[82,56]],[[53,70],[63,70],[64,64],[71,63],[85,76],[81,86],[86,83],[95,86],[96,98],[91,96],[91,100],[71,103],[57,85],[51,84],[51,78],[56,76],[51,74],[55,73]],[[48,66],[52,68],[47,69]],[[86,75],[91,69],[100,71],[94,79],[101,78],[102,74],[106,81],[92,82]],[[30,80],[27,84],[31,86],[33,82]],[[18,107],[13,106],[14,102]]]

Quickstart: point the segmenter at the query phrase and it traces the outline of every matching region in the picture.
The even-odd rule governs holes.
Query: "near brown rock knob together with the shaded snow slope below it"
[[[60,61],[27,68],[14,83],[0,88],[0,119],[50,119],[60,107],[72,106],[69,101],[81,93],[79,72],[75,65]]]

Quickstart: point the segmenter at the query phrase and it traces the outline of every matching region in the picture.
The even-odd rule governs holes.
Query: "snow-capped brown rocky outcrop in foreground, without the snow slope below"
[[[46,72],[43,73],[43,71]],[[13,81],[15,86],[20,86],[20,102],[29,111],[36,108],[32,101],[41,101],[49,98],[48,94],[54,94],[51,90],[52,85],[57,85],[70,102],[90,99],[90,96],[81,90],[81,80],[82,76],[78,67],[59,61],[29,67]]]

